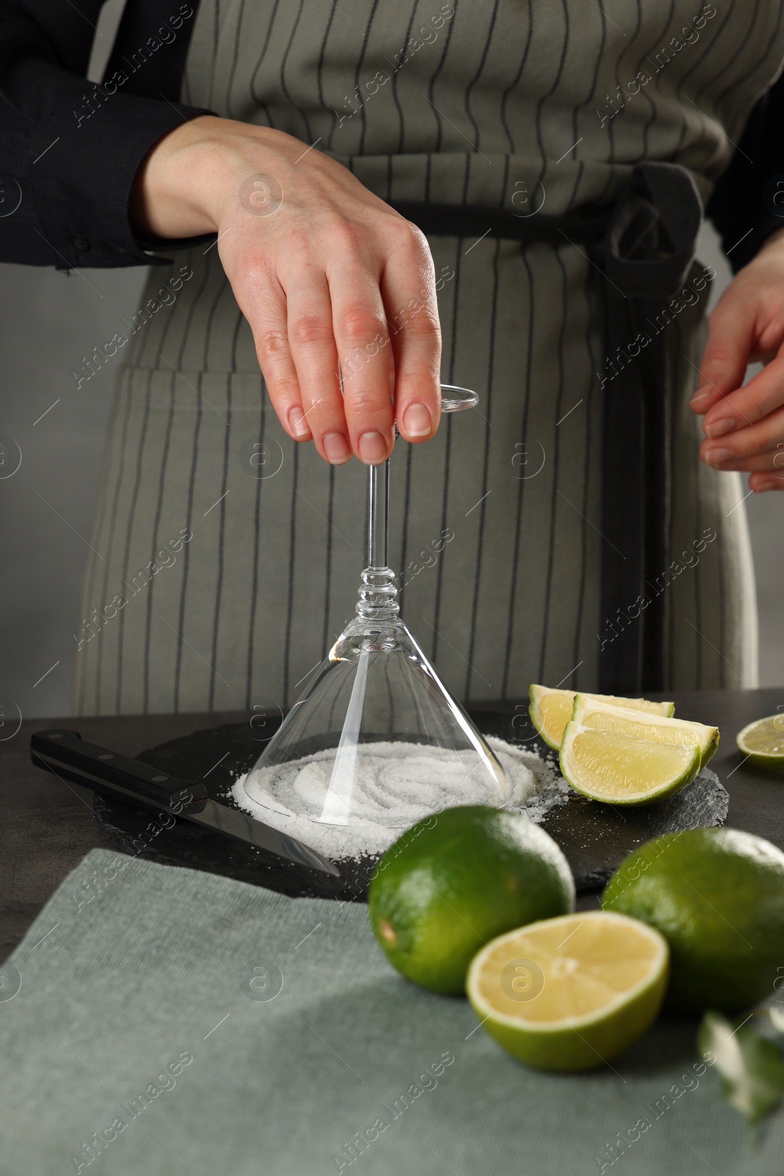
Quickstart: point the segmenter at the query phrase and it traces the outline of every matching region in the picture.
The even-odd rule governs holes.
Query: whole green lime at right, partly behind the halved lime
[[[735,1013],[784,965],[784,854],[739,829],[656,837],[618,866],[602,907],[656,927],[670,944],[664,1007]]]

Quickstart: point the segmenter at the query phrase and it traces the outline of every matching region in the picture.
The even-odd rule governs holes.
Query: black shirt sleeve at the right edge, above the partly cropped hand
[[[782,187],[777,189],[777,182]],[[784,76],[751,112],[732,162],[706,208],[733,272],[784,228]]]

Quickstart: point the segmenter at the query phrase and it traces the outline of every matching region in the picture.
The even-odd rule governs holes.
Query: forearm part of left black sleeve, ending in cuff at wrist
[[[146,250],[214,239],[145,241],[128,219],[149,149],[212,111],[122,93],[112,79],[99,87],[34,58],[19,62],[4,88],[16,111],[4,118],[0,135],[0,187],[9,193],[0,209],[18,207],[0,212],[0,260],[58,269],[166,265]]]

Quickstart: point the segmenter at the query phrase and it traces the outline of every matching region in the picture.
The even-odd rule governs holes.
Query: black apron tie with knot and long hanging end
[[[605,355],[598,689],[663,689],[666,608],[655,577],[670,556],[674,400],[664,326],[702,225],[693,180],[675,163],[638,163],[614,205],[564,216],[411,201],[391,207],[428,236],[588,247]],[[630,617],[628,610],[637,612]]]

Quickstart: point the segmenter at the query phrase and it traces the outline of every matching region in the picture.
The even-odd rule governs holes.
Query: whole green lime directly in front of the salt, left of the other
[[[368,913],[393,968],[436,993],[463,993],[496,935],[575,907],[563,853],[517,813],[467,804],[425,817],[383,854]]]

